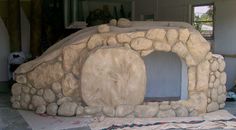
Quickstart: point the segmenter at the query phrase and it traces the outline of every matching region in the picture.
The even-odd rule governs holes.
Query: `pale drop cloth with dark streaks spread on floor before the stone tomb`
[[[125,127],[125,130],[159,130],[169,128],[186,129],[236,129],[236,121],[230,120],[236,117],[226,110],[207,113],[199,117],[176,117],[176,118],[79,118],[36,115],[30,111],[19,110],[33,130],[59,130],[89,126],[92,130],[111,128],[111,126]],[[158,124],[149,125],[146,124]]]

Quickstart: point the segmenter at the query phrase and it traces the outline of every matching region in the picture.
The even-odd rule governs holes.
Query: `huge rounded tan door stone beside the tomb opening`
[[[84,63],[81,93],[88,106],[137,105],[143,102],[145,88],[145,65],[133,50],[101,48]]]

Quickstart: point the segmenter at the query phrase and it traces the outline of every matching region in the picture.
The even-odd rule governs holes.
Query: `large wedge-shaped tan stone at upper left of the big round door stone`
[[[63,68],[70,71],[75,61],[78,60],[80,52],[86,47],[85,43],[69,45],[63,48]]]

